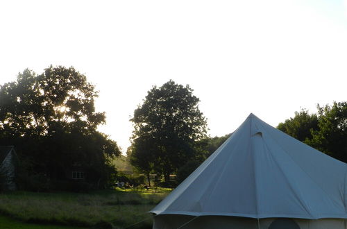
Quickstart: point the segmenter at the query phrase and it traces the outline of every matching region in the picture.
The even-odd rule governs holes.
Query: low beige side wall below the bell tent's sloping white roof
[[[268,229],[276,218],[257,219],[244,217],[206,216],[192,217],[162,214],[153,218],[153,229]],[[301,229],[347,229],[345,219],[293,219]],[[187,223],[187,224],[185,224]],[[285,229],[278,228],[278,229]]]

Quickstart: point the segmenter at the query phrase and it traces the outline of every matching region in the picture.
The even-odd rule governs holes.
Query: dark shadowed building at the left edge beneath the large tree
[[[17,189],[15,183],[17,162],[14,146],[0,146],[0,189]]]

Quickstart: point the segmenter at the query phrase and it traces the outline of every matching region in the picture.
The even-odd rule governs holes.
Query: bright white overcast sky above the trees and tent
[[[209,134],[346,101],[347,0],[0,1],[0,85],[73,66],[125,153],[153,85],[189,85]]]

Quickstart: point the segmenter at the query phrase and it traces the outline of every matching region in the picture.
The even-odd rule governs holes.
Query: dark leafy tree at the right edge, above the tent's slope
[[[314,148],[347,162],[347,102],[325,105],[318,109],[318,130],[306,141]]]

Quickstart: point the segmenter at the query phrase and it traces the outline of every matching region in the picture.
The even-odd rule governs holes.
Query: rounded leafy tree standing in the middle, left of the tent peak
[[[192,92],[189,85],[184,87],[173,80],[153,86],[130,119],[134,124],[133,157],[149,155],[151,167],[164,174],[166,182],[171,173],[194,158],[194,143],[206,134],[206,119]]]

